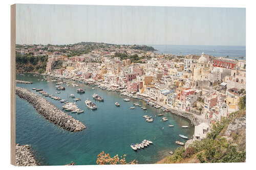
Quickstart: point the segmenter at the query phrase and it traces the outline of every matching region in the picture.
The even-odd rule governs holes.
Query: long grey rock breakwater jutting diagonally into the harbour
[[[86,128],[86,126],[84,126],[79,120],[62,112],[49,101],[26,88],[16,87],[16,94],[19,96],[19,98],[32,104],[35,110],[47,120],[65,130],[78,132]]]

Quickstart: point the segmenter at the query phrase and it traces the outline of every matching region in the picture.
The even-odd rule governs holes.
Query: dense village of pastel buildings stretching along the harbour
[[[48,55],[46,75],[90,82],[192,114],[197,118],[195,140],[206,137],[211,124],[239,110],[239,99],[245,95],[245,60],[204,52],[186,56],[159,54],[145,45],[86,46],[20,46],[16,53]]]

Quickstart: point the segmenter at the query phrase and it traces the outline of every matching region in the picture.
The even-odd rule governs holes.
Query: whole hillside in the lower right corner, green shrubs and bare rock
[[[245,162],[246,110],[233,112],[214,125],[205,139],[179,147],[174,155],[157,163]]]

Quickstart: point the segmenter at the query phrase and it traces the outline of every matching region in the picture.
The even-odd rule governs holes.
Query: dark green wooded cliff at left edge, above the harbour
[[[17,72],[45,72],[48,56],[20,55],[16,53]]]

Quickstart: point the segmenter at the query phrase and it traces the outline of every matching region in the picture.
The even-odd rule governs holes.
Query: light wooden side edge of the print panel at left
[[[16,5],[11,5],[11,164],[16,165],[15,160],[15,44],[16,44]]]

